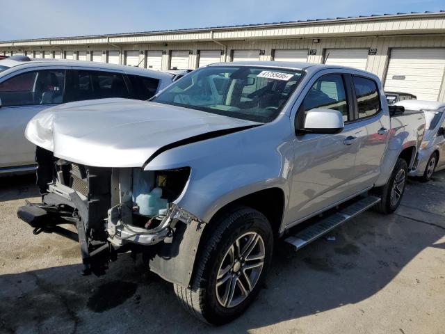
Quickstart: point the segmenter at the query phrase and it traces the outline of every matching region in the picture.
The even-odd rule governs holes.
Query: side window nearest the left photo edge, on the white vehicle
[[[18,74],[0,84],[2,106],[32,106],[63,102],[65,70],[40,70]]]

